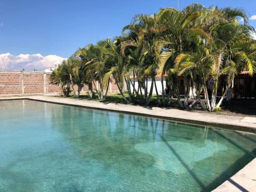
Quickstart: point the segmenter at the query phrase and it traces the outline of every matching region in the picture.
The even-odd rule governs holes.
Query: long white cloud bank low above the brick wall
[[[47,55],[42,56],[40,53],[37,54],[19,54],[12,55],[10,53],[0,54],[0,70],[4,70],[5,61],[7,70],[23,70],[26,71],[42,71],[47,68],[53,68],[55,63],[62,62],[67,59],[58,55]]]

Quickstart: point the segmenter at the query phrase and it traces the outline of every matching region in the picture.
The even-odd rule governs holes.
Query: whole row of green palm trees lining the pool
[[[252,75],[256,69],[256,41],[252,33],[254,29],[243,9],[191,4],[181,11],[163,8],[156,14],[137,14],[123,28],[121,36],[76,51],[53,71],[51,80],[61,86],[65,96],[72,89],[75,93],[76,84],[79,97],[87,84],[91,97],[96,94],[104,98],[113,78],[127,103],[140,99],[149,104],[155,87],[160,106],[170,105],[176,97],[182,108],[191,108],[198,102],[205,110],[214,111],[232,89],[234,77],[244,70]],[[162,94],[163,76],[169,87],[167,95]],[[178,76],[186,79],[184,97],[179,93]],[[221,76],[225,86],[222,97],[217,99]],[[161,90],[157,90],[156,77],[161,80]],[[148,79],[152,80],[150,88]],[[207,90],[208,80],[214,84],[211,93]],[[95,81],[100,84],[96,92]],[[122,91],[124,84],[127,97]],[[191,89],[193,99],[188,103]]]

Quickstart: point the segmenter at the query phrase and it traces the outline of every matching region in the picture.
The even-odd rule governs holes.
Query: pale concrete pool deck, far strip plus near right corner
[[[207,113],[188,112],[177,109],[146,108],[129,104],[103,103],[98,101],[61,98],[53,96],[19,96],[0,97],[1,100],[29,99],[64,105],[82,106],[99,110],[128,113],[147,117],[201,124],[204,126],[222,127],[232,130],[242,130],[256,133],[256,118]],[[242,133],[241,133],[242,134]],[[225,181],[214,191],[256,191],[256,158],[242,168],[236,175]]]

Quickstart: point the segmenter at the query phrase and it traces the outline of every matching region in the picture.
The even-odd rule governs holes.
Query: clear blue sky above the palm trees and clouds
[[[180,0],[180,9],[196,1]],[[256,15],[256,1],[197,1],[205,7],[243,7]],[[177,8],[177,0],[1,0],[0,54],[69,57],[79,47],[120,35],[137,13]],[[256,28],[256,19],[251,20]],[[1,60],[0,60],[1,63]]]

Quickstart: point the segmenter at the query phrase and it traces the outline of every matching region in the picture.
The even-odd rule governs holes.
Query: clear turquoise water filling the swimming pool
[[[253,134],[73,106],[2,101],[0,122],[0,191],[209,191],[255,157]]]

